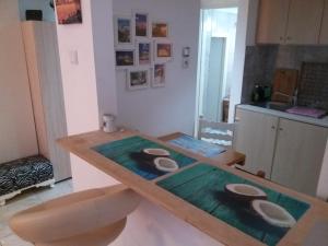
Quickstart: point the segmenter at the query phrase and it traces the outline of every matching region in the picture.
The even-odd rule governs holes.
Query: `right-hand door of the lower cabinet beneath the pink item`
[[[328,129],[281,119],[271,179],[315,196]]]

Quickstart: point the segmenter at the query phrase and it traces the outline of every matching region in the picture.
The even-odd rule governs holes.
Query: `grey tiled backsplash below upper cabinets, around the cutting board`
[[[328,62],[328,46],[247,46],[242,102],[250,102],[254,84],[272,84],[276,69],[301,71],[303,62]],[[327,87],[327,83],[323,86]]]

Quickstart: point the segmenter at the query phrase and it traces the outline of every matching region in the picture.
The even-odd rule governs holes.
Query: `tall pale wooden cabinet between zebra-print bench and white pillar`
[[[56,139],[67,136],[63,92],[59,67],[56,26],[47,22],[24,22],[25,37],[33,46],[34,62],[31,68],[38,73],[33,79],[36,102],[43,107],[43,124],[45,125],[49,159],[54,164],[56,180],[71,177],[69,154],[61,150]],[[42,114],[39,114],[40,117]]]

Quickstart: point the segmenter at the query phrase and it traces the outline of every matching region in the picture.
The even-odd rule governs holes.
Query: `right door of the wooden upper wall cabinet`
[[[325,0],[291,0],[286,44],[318,44]]]

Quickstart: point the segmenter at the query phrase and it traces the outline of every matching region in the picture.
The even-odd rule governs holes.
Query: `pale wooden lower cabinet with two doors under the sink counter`
[[[234,148],[246,154],[245,171],[316,196],[328,128],[245,108],[236,109]]]

